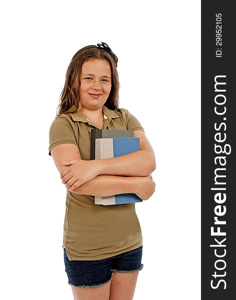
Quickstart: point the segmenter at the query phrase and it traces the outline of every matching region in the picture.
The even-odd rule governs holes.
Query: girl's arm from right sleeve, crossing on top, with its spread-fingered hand
[[[60,177],[73,190],[97,175],[150,175],[155,169],[153,149],[142,130],[134,131],[134,137],[140,138],[140,151],[113,158],[65,161],[68,168],[60,172]]]

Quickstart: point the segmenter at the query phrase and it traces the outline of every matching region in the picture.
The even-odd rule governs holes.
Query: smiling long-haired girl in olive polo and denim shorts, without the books
[[[117,57],[104,42],[72,57],[49,155],[66,187],[63,250],[75,300],[131,300],[142,269],[142,234],[135,203],[94,204],[94,196],[135,193],[148,199],[155,157],[139,121],[118,108]],[[90,160],[92,128],[133,130],[140,151]]]

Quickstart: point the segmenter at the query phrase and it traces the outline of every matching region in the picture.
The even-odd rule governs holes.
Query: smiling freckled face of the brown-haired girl
[[[111,89],[111,70],[104,59],[89,59],[82,65],[79,110],[98,109],[107,100]]]

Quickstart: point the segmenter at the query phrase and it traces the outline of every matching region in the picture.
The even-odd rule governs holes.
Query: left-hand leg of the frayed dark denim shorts
[[[110,258],[69,260],[64,248],[64,264],[68,283],[73,287],[100,287],[112,278]]]

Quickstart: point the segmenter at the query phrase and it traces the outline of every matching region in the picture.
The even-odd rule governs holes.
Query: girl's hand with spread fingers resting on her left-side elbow
[[[93,160],[72,159],[63,164],[66,167],[62,169],[60,178],[71,191],[98,175]]]

